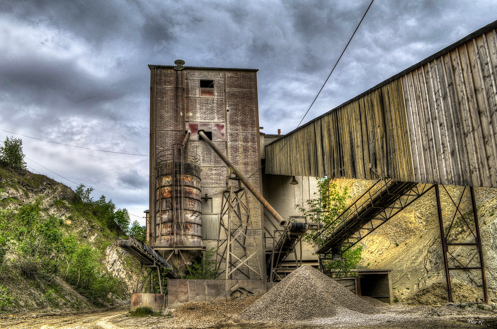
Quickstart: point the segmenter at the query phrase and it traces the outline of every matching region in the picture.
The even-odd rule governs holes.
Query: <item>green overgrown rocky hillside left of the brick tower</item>
[[[112,201],[0,162],[0,312],[126,303],[138,263],[119,236]]]

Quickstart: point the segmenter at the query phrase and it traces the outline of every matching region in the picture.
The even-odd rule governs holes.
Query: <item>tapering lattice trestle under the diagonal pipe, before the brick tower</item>
[[[216,269],[220,276],[224,273],[227,280],[234,277],[262,279],[247,191],[239,179],[227,178],[228,182],[233,180],[236,186],[228,183],[223,191]]]

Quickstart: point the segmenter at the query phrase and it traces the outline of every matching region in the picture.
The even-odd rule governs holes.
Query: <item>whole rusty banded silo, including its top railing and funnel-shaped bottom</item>
[[[175,146],[158,159],[154,248],[184,271],[203,249],[199,158]]]

